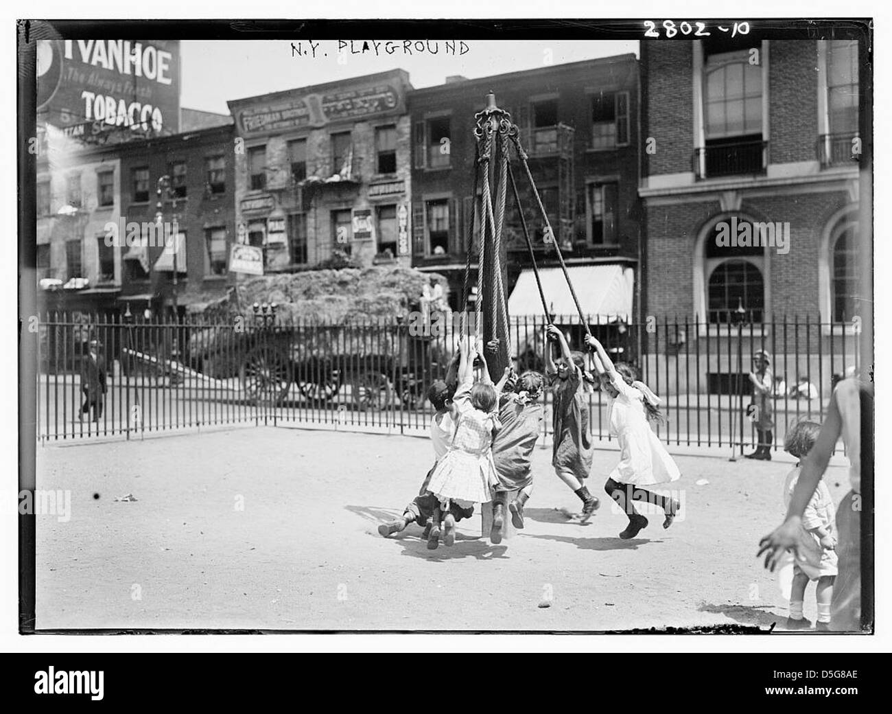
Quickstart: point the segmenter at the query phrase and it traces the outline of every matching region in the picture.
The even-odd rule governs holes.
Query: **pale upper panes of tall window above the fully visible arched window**
[[[762,135],[762,67],[747,50],[712,54],[704,67],[706,138]]]

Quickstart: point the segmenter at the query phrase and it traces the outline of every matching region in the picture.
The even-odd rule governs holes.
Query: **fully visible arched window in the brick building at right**
[[[706,320],[712,324],[757,324],[765,310],[764,248],[753,245],[727,245],[720,240],[728,231],[739,235],[743,218],[718,221],[704,241],[706,274]]]

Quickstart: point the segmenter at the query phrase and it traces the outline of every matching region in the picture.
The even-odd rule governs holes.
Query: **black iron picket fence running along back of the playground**
[[[129,438],[239,423],[423,432],[432,414],[426,389],[445,376],[459,324],[450,313],[420,324],[245,320],[45,316],[37,352],[39,438]],[[582,348],[578,319],[556,316],[555,323],[574,349]],[[820,421],[835,380],[859,367],[853,323],[806,317],[758,325],[668,319],[590,325],[615,361],[632,363],[663,398],[668,421],[657,433],[668,444],[742,450],[756,443],[748,380],[756,350],[772,355],[775,448],[790,423]],[[541,318],[511,320],[517,371],[544,369],[544,328]],[[592,434],[608,439],[607,397],[597,383],[590,390]],[[545,409],[549,435],[550,394]]]

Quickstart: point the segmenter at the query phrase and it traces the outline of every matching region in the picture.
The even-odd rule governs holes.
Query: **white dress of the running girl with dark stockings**
[[[644,394],[621,378],[615,379],[614,386],[619,394],[607,398],[607,423],[619,442],[620,461],[610,478],[636,486],[678,480],[678,466],[648,423]]]

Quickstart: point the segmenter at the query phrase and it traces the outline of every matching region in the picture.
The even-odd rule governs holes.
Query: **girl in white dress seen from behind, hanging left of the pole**
[[[442,520],[443,544],[455,543],[455,517],[450,506],[468,508],[490,500],[490,488],[498,480],[492,465],[492,438],[500,428],[493,411],[498,402],[496,388],[487,381],[472,383],[475,347],[467,340],[459,344],[459,386],[450,405],[455,436],[449,451],[434,468],[427,490],[434,494],[439,508],[434,509],[430,538],[439,538]]]

